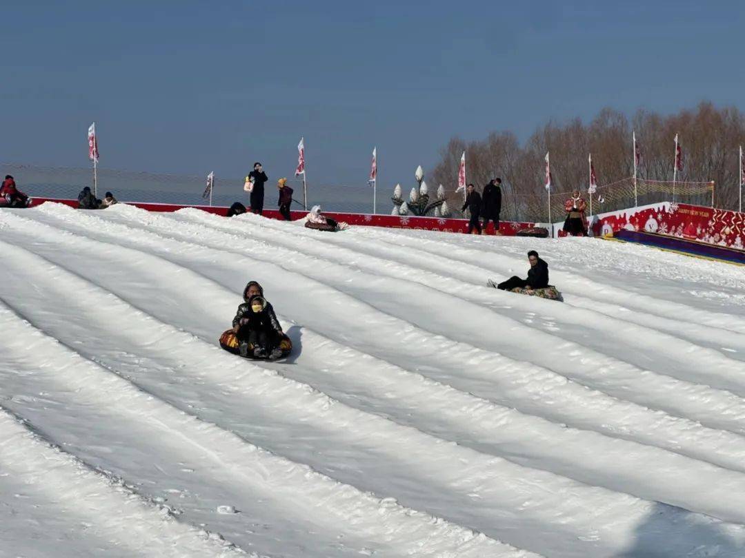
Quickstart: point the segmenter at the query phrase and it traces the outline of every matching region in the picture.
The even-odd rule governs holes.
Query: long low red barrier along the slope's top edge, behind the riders
[[[77,208],[77,200],[75,199],[51,199],[51,198],[34,198],[31,202],[31,206],[41,205],[44,202],[57,202],[69,205],[73,208]],[[228,208],[217,208],[209,207],[209,205],[171,205],[165,203],[145,203],[145,202],[126,202],[128,205],[134,205],[138,208],[145,209],[147,211],[177,211],[183,208],[194,208],[206,211],[208,213],[216,215],[226,215]],[[307,214],[306,211],[292,211],[291,216],[294,219],[302,219]],[[443,231],[443,232],[454,232],[454,233],[465,233],[468,228],[468,221],[466,219],[443,219],[439,217],[409,217],[409,216],[397,216],[397,215],[370,215],[370,214],[356,214],[356,213],[334,213],[332,211],[324,211],[324,215],[331,217],[336,221],[343,221],[349,223],[349,225],[364,225],[367,227],[387,227],[387,228],[413,228],[424,231]],[[282,219],[279,215],[279,211],[276,209],[264,210],[264,217],[270,219]],[[517,231],[523,228],[530,228],[535,226],[534,223],[529,222],[512,222],[502,221],[499,223],[499,232],[505,236],[514,236]],[[489,223],[489,227],[486,229],[486,234],[494,234],[494,225]]]

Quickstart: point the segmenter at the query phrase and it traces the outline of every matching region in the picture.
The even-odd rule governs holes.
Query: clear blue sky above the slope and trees
[[[34,1],[1,10],[0,161],[413,183],[451,135],[745,109],[745,4]]]

